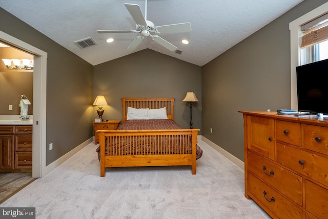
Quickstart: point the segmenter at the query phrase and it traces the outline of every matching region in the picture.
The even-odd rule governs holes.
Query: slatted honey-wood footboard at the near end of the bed
[[[106,167],[185,166],[196,174],[199,129],[99,130],[100,176]]]

